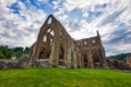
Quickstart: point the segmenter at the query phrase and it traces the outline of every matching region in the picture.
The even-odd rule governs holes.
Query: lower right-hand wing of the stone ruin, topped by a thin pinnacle
[[[106,67],[105,50],[98,32],[97,36],[76,40],[76,42],[82,50],[85,67]]]

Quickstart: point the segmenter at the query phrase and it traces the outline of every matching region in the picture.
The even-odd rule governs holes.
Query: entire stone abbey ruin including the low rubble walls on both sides
[[[131,55],[127,63],[106,59],[100,36],[74,40],[53,15],[40,27],[29,54],[16,60],[0,60],[0,70],[36,67],[106,67],[131,71]]]

